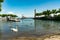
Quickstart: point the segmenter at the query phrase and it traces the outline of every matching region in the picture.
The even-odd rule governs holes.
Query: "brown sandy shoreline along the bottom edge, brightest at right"
[[[39,37],[17,37],[11,40],[60,40],[60,34],[44,35]]]

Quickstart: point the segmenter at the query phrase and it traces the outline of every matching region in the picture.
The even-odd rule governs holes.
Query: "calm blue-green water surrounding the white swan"
[[[11,28],[18,29],[18,32]],[[21,19],[20,22],[0,22],[0,40],[22,36],[41,36],[60,33],[60,21]]]

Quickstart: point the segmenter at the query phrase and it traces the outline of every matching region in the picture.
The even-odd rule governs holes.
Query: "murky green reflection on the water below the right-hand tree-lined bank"
[[[60,33],[60,22],[35,20],[36,34]]]

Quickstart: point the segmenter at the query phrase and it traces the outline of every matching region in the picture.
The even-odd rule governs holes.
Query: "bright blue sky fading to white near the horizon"
[[[37,12],[60,8],[60,0],[4,0],[2,14],[16,14],[19,17],[34,17],[34,9]]]

